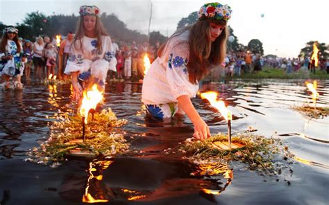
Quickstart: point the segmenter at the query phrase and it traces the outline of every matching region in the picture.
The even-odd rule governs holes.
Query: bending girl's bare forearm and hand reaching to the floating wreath
[[[189,117],[189,119],[192,121],[194,125],[194,134],[193,136],[196,139],[205,140],[208,137],[210,137],[210,129],[208,125],[203,121],[201,116],[198,112],[196,112],[196,109],[194,108],[191,99],[189,99],[189,96],[180,96],[177,98],[178,105],[183,109],[185,114]]]

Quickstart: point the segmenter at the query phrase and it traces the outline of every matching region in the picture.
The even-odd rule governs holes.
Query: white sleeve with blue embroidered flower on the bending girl
[[[189,82],[187,63],[189,59],[189,45],[181,43],[171,48],[167,60],[167,82],[174,98],[187,95],[194,96],[194,85]]]

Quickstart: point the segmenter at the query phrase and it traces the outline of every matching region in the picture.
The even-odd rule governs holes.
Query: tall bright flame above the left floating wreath
[[[96,109],[96,105],[103,100],[103,92],[97,89],[97,84],[92,86],[90,91],[83,91],[83,100],[80,108],[80,114],[85,117],[85,124],[87,124],[88,113],[90,109]]]

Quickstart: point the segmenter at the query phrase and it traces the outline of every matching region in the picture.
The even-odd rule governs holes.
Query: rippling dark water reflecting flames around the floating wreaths
[[[319,82],[317,106],[329,106],[328,87],[329,81]],[[25,162],[26,151],[47,138],[47,123],[53,119],[46,116],[58,109],[75,112],[69,85],[32,83],[24,91],[0,91],[0,203],[80,204],[93,199],[110,204],[328,203],[329,118],[312,119],[291,109],[312,103],[303,81],[234,81],[203,88],[219,91],[233,112],[233,132],[248,126],[267,137],[277,132],[300,159],[292,165],[293,172],[264,177],[230,162],[214,165],[212,177],[198,175],[207,168],[163,152],[191,137],[192,123],[187,118],[183,123],[146,118],[140,101],[142,84],[121,82],[107,85],[106,107],[128,120],[122,130],[131,148],[142,154],[99,161],[69,159],[54,169]],[[226,132],[226,122],[214,108],[199,98],[193,102],[212,133]]]

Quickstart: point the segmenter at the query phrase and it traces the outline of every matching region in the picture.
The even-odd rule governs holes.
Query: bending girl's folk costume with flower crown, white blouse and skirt
[[[199,10],[199,19],[230,19],[229,6],[206,3]],[[146,111],[157,118],[171,118],[178,110],[180,96],[194,98],[199,82],[189,82],[187,63],[189,60],[189,30],[169,38],[162,55],[151,64],[143,80],[142,102]]]

